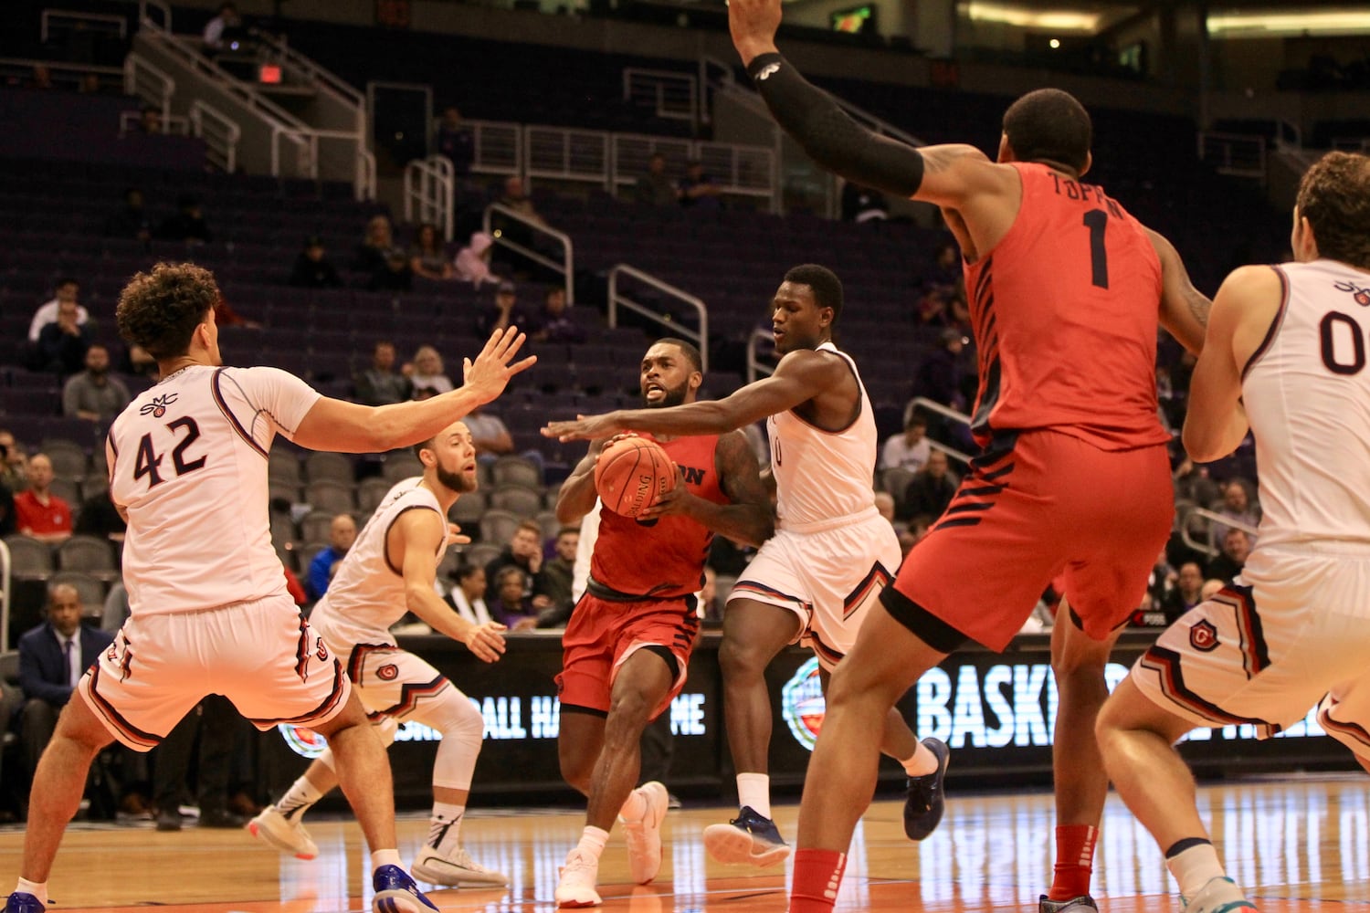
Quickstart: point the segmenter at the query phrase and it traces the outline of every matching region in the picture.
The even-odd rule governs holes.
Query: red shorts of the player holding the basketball
[[[697,635],[693,597],[618,602],[586,593],[562,635],[562,673],[556,676],[562,705],[608,713],[619,667],[637,650],[664,647],[675,657],[677,675],[652,713],[655,720],[685,687]]]

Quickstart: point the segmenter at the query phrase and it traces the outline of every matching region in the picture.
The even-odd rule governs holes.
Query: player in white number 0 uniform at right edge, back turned
[[[1303,177],[1295,263],[1241,267],[1212,303],[1184,441],[1196,463],[1256,437],[1260,539],[1171,624],[1099,715],[1118,794],[1151,831],[1186,913],[1254,910],[1226,877],[1173,745],[1195,727],[1263,736],[1318,721],[1370,769],[1370,157]]]

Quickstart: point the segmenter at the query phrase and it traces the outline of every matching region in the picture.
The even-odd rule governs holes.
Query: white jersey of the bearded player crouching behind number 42
[[[406,511],[433,511],[447,530],[447,517],[437,496],[419,485],[422,476],[396,482],[375,513],[356,535],[356,542],[348,549],[338,565],[329,591],[323,594],[314,612],[310,626],[338,656],[347,656],[358,643],[395,643],[390,626],[404,617],[404,575],[401,568],[390,564],[385,553],[385,539],[390,527]],[[438,542],[433,554],[437,568],[447,552],[447,537]]]

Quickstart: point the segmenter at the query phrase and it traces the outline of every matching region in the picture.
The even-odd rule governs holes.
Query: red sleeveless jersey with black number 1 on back
[[[1104,450],[1164,443],[1156,416],[1160,259],[1103,188],[1014,163],[1008,234],[966,266],[980,345],[971,430],[1051,428]]]

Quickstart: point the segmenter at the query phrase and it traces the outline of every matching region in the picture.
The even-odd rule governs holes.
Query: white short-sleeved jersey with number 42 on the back
[[[267,453],[319,393],[278,368],[192,365],[141,393],[110,427],[110,497],[129,515],[133,616],[285,593],[271,546]]]

